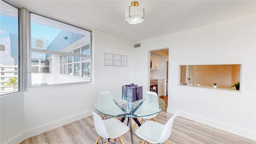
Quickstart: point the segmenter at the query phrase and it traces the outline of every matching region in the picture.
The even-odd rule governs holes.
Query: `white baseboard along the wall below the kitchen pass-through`
[[[182,112],[180,110],[176,110],[176,109],[173,109],[173,108],[167,108],[168,113],[174,114],[174,112],[176,112],[176,111],[179,111],[180,112],[179,116],[181,116],[183,118],[187,118],[189,120],[200,122],[202,124],[206,124],[208,126],[212,126],[214,128],[218,128],[220,130],[224,130],[226,132],[230,132],[232,134],[236,134],[238,136],[242,136],[244,138],[249,138],[251,140],[256,141],[256,133],[255,132],[244,130],[242,128],[237,128],[237,127],[234,127],[234,126],[230,126],[228,124],[223,124],[223,123],[220,123],[220,122],[216,122],[214,120],[210,120],[210,119],[207,119],[207,118],[203,118],[203,117],[200,117],[200,116],[196,116],[196,115],[193,115],[193,114]]]

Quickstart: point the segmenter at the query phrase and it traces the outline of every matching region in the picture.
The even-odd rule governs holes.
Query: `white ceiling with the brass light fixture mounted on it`
[[[145,9],[141,24],[127,24],[124,11],[130,0],[12,0],[32,12],[87,30],[98,29],[130,42],[180,32],[256,13],[256,1],[140,0]]]

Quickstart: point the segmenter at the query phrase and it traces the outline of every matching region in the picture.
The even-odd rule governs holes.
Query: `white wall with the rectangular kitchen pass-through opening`
[[[255,27],[254,14],[144,40],[132,79],[146,86],[148,50],[169,48],[168,112],[256,140]],[[178,86],[179,65],[195,64],[242,64],[242,92]]]

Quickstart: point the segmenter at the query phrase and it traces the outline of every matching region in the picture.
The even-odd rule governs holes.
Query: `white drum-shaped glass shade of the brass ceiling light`
[[[125,10],[125,21],[129,24],[140,24],[144,20],[144,9],[139,6],[129,6]]]

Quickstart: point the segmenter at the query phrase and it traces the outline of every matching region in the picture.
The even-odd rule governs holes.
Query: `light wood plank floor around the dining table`
[[[165,102],[165,109],[156,116],[156,120],[162,124],[172,117],[166,112],[168,96],[161,97]],[[126,120],[124,122],[126,124]],[[134,121],[133,121],[134,123]],[[142,139],[136,136],[133,130],[134,144],[141,144]],[[76,122],[55,128],[37,136],[33,136],[20,144],[94,144],[98,134],[94,128],[92,116]],[[124,143],[131,144],[130,130],[122,136]],[[110,140],[113,142],[113,140]],[[172,134],[169,144],[256,144],[256,141],[237,136],[186,118],[177,116],[172,126]],[[121,144],[116,141],[116,144]]]

